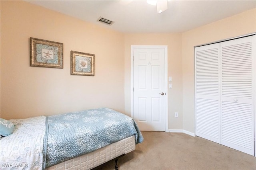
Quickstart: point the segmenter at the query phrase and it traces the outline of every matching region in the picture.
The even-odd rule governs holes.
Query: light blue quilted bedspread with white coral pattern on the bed
[[[136,122],[109,108],[48,116],[43,167],[48,168],[132,135],[135,135],[136,144],[142,143]]]

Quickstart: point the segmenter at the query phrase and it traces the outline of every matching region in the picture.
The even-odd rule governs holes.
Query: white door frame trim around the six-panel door
[[[163,48],[164,49],[164,67],[165,67],[165,131],[168,132],[168,46],[167,45],[131,45],[131,117],[134,119],[134,72],[133,72],[133,52],[136,48]]]

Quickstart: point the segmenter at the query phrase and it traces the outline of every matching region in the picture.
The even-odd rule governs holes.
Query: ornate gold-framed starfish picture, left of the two
[[[30,37],[30,66],[63,68],[63,43]]]

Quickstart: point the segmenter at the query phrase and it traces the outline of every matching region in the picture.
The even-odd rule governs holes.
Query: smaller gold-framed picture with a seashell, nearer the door
[[[71,51],[71,74],[94,76],[94,54]]]

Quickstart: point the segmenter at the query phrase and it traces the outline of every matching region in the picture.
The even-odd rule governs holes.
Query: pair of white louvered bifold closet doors
[[[196,135],[251,155],[256,152],[255,38],[195,48]]]

